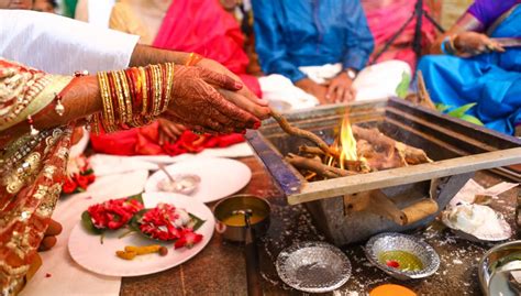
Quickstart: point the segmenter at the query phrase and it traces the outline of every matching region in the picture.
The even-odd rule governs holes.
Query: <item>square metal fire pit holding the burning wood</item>
[[[422,149],[434,162],[334,179],[307,182],[284,156],[298,153],[309,141],[285,133],[274,120],[264,122],[246,139],[290,205],[306,202],[317,226],[331,242],[343,245],[384,231],[406,231],[430,223],[475,171],[495,172],[521,179],[521,140],[417,107],[401,99],[324,106],[287,113],[288,121],[332,143],[348,111],[353,124],[377,127],[388,136]],[[518,168],[519,169],[519,168]],[[432,198],[439,211],[414,223],[399,226],[370,211],[350,210],[350,200],[378,189],[399,208]]]

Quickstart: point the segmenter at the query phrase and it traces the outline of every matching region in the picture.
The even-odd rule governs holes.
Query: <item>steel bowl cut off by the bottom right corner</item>
[[[490,279],[498,270],[498,262],[502,261],[509,255],[517,253],[521,254],[521,241],[501,243],[485,253],[478,265],[479,284],[484,295],[491,295],[489,290]]]

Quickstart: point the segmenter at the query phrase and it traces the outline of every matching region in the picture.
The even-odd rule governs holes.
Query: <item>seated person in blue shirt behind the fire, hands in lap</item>
[[[362,91],[353,85],[374,46],[358,0],[253,0],[252,4],[256,51],[266,74],[286,76],[321,103],[369,98],[356,96]],[[400,67],[399,80],[402,73]]]

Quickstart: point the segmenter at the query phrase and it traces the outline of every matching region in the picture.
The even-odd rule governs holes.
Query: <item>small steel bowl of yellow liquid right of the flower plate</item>
[[[213,208],[213,215],[217,220],[215,230],[226,240],[244,242],[246,239],[245,223],[244,226],[232,226],[226,224],[225,220],[234,215],[234,211],[247,209],[251,209],[254,215],[260,216],[258,221],[252,220],[251,224],[256,237],[264,235],[269,229],[271,207],[267,200],[254,195],[234,195],[219,201]]]

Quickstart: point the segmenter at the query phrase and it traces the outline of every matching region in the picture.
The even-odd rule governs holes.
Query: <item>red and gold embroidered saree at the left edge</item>
[[[16,294],[36,256],[65,180],[71,133],[64,127],[11,139],[9,128],[45,108],[69,81],[0,58],[2,295]]]

